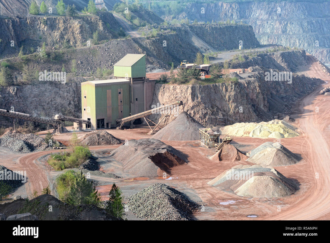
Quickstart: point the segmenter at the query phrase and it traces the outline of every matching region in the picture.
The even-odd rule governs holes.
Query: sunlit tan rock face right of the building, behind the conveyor
[[[292,83],[266,81],[265,72],[271,70],[263,67],[253,69],[237,82],[204,86],[156,84],[152,104],[182,100],[184,106],[176,112],[185,111],[205,126],[269,121],[274,116],[290,114],[294,100],[323,83],[320,79],[303,75],[293,75]],[[163,116],[153,115],[152,119],[159,121]]]

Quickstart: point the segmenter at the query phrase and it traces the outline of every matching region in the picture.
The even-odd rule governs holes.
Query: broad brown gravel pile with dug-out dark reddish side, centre
[[[172,146],[153,139],[128,140],[111,156],[123,163],[125,172],[146,177],[171,175],[171,168],[185,164],[185,156]]]

